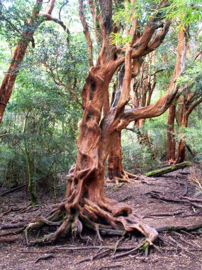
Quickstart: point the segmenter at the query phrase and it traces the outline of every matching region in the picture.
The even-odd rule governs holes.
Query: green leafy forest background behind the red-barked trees
[[[147,9],[150,1],[138,2],[144,21],[145,11],[142,10]],[[176,110],[175,121],[169,124],[170,111],[167,110],[160,117],[141,123],[133,121],[123,130],[123,167],[131,173],[144,174],[165,162],[173,162],[168,156],[167,132],[174,137],[176,146],[179,141],[185,143],[186,160],[202,160],[202,26],[200,16],[194,11],[180,22],[178,13],[184,12],[184,1],[178,2],[179,10],[170,12],[173,23],[166,38],[157,50],[141,59],[140,70],[131,85],[132,101],[128,104],[129,107],[154,104],[167,92],[176,65],[179,31],[186,28],[186,67],[176,78],[180,94],[172,103]],[[192,1],[187,3],[191,5]],[[92,56],[96,60],[101,44],[96,39],[87,2],[84,1],[83,7],[94,45]],[[0,1],[0,81],[27,27],[32,9],[31,0]],[[123,1],[117,1],[114,9],[117,13],[113,20],[121,25],[125,16]],[[88,45],[77,1],[57,1],[53,15],[58,17],[58,14],[65,28],[54,21],[43,21],[36,28],[34,39],[18,67],[16,83],[0,126],[0,185],[13,187],[31,180],[35,193],[40,194],[45,189],[55,196],[64,192],[63,180],[76,161],[82,119],[81,92],[89,70]],[[187,21],[183,21],[185,18]],[[114,35],[114,42],[123,45],[123,36],[124,31],[122,36]],[[111,95],[118,87],[119,71],[111,80]],[[183,102],[189,97],[193,97],[190,104],[198,104],[188,124],[184,125],[180,116]]]

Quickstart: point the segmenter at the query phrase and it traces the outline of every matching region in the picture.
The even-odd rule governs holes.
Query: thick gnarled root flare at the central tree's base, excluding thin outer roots
[[[145,236],[145,242],[149,245],[152,245],[158,237],[156,229],[140,222],[132,214],[131,208],[122,202],[107,198],[93,202],[83,198],[76,207],[71,206],[67,200],[64,200],[56,206],[55,210],[52,210],[49,216],[30,223],[25,229],[27,244],[55,242],[70,233],[73,237],[79,236],[84,239],[82,237],[83,225],[94,229],[100,242],[102,241],[100,234],[120,235],[125,232],[140,232]],[[56,230],[42,238],[30,241],[29,232],[41,227],[56,227]]]

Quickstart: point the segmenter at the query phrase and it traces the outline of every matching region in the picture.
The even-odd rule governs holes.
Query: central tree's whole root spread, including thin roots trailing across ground
[[[108,200],[108,203],[101,200],[93,202],[87,198],[83,198],[82,203],[77,205],[77,210],[75,210],[75,208],[72,210],[68,205],[67,200],[64,200],[64,202],[56,205],[55,209],[50,212],[50,215],[45,218],[41,217],[26,227],[25,233],[27,244],[31,245],[55,242],[60,239],[60,237],[66,237],[68,234],[72,234],[74,238],[78,236],[81,239],[84,239],[82,236],[84,225],[94,229],[101,244],[101,234],[120,235],[120,239],[116,242],[115,247],[102,245],[99,247],[93,247],[99,248],[99,252],[91,258],[79,261],[79,263],[86,260],[92,261],[94,259],[101,259],[108,256],[112,257],[112,259],[118,259],[125,256],[136,256],[139,252],[144,254],[144,259],[147,260],[150,247],[156,249],[157,252],[162,252],[162,248],[154,244],[157,239],[165,244],[171,244],[173,246],[174,244],[177,244],[179,249],[183,249],[188,253],[191,252],[190,249],[186,249],[181,244],[176,243],[176,240],[172,239],[172,237],[162,237],[162,235],[160,235],[161,232],[174,231],[178,232],[178,234],[176,234],[177,236],[179,236],[179,232],[182,230],[186,232],[197,232],[198,229],[201,232],[202,222],[196,225],[150,227],[135,217],[135,215],[131,213],[131,208],[128,207],[128,205],[124,205],[120,202],[113,205],[113,203],[109,203],[111,200],[106,200]],[[41,227],[56,227],[56,229],[55,232],[30,241],[30,232],[40,229]],[[136,246],[128,245],[126,247],[122,247],[125,234],[133,235],[137,232],[143,234],[145,238]],[[181,242],[186,242],[183,237],[180,237],[180,240]],[[91,247],[64,247],[65,250],[90,248]],[[51,252],[52,250],[53,249],[51,249]],[[198,247],[196,247],[196,250],[199,250]]]

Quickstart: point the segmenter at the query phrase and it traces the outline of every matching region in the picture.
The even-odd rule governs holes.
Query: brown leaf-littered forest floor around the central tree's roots
[[[128,203],[136,213],[142,216],[142,220],[151,226],[161,225],[192,225],[193,223],[202,222],[202,211],[200,208],[194,207],[191,203],[172,202],[152,198],[148,193],[155,190],[158,194],[169,198],[181,198],[185,195],[195,200],[202,200],[202,192],[200,193],[190,182],[189,173],[193,168],[186,168],[183,171],[179,170],[173,173],[164,175],[164,177],[155,178],[155,180],[147,180],[140,183],[125,183],[121,186],[116,186],[111,183],[106,184],[106,194],[110,198],[115,198],[118,201],[123,200]],[[197,175],[197,173],[196,173]],[[185,194],[186,193],[186,194]],[[58,198],[60,202],[62,198]],[[53,200],[48,196],[40,200],[40,207],[33,207],[28,210],[21,210],[26,207],[29,202],[28,192],[26,189],[19,190],[8,194],[2,198],[0,209],[0,227],[2,225],[13,224],[15,222],[30,221],[40,215],[45,215],[50,211],[53,205]],[[196,212],[198,214],[196,215]],[[7,232],[8,230],[0,230]],[[92,232],[87,232],[94,242],[94,245],[100,245],[99,240]],[[165,232],[164,237],[172,237],[178,244],[162,245],[162,253],[152,249],[147,260],[142,260],[141,257],[120,257],[113,260],[112,257],[104,257],[93,261],[79,261],[93,257],[98,249],[89,249],[92,244],[85,244],[77,239],[73,244],[72,237],[62,239],[57,244],[49,244],[43,246],[27,247],[26,240],[21,236],[16,242],[0,244],[0,269],[127,269],[127,270],[202,270],[202,237],[201,234],[189,234],[181,232]],[[181,238],[180,238],[181,237]],[[118,237],[103,237],[103,245],[114,247]],[[122,246],[133,244],[134,239],[122,243]],[[70,250],[72,245],[75,247],[84,247],[80,250]],[[120,245],[120,247],[121,247]],[[52,247],[56,247],[52,249]],[[52,249],[52,251],[51,251]],[[112,252],[113,253],[113,252]],[[40,259],[45,255],[51,254],[49,259]]]

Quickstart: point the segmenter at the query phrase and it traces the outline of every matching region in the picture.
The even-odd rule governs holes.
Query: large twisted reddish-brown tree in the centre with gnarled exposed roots
[[[158,236],[157,231],[162,229],[145,225],[132,213],[130,206],[106,198],[104,193],[106,159],[113,141],[117,139],[117,134],[131,121],[157,117],[164,113],[177,93],[177,88],[174,87],[154,105],[133,109],[127,107],[130,100],[133,59],[155,50],[169,29],[169,21],[163,21],[162,16],[158,16],[162,6],[164,1],[157,4],[152,16],[147,17],[147,23],[142,31],[137,31],[135,12],[132,16],[127,16],[126,42],[123,48],[118,48],[116,43],[111,41],[112,1],[99,1],[102,46],[96,65],[89,69],[82,90],[84,112],[79,125],[77,163],[69,170],[64,201],[56,205],[46,218],[42,217],[28,225],[26,232],[41,225],[57,226],[55,232],[42,239],[36,239],[35,242],[52,241],[69,231],[81,235],[83,225],[86,225],[96,230],[98,234],[103,230],[106,232],[117,232],[119,229],[128,232],[138,230],[151,244]],[[151,10],[153,7],[151,6]],[[131,4],[125,2],[127,12],[128,9],[135,8],[137,6],[134,1]],[[125,65],[123,87],[114,97],[111,109],[106,112],[109,84],[116,70],[123,64]]]

